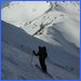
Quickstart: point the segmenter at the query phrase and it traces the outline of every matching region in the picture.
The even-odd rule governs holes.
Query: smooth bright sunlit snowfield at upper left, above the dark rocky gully
[[[29,23],[43,14],[49,9],[49,3],[41,1],[13,1],[2,10],[2,18],[8,23],[21,26],[21,24]]]

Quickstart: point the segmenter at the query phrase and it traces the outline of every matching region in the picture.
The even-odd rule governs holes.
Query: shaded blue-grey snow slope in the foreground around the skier
[[[38,51],[37,48],[39,45],[45,45],[48,48],[49,58],[46,59],[46,65],[54,79],[79,78],[79,57],[71,55],[69,52],[63,50],[62,46],[55,46],[33,38],[23,29],[4,22],[2,22],[2,79],[50,79],[45,77],[45,75],[43,78],[41,73],[39,73],[39,70],[36,69],[35,64],[39,64],[37,57],[33,56],[30,65],[31,52],[32,50]],[[75,49],[75,51],[77,51],[77,49]],[[14,70],[12,70],[12,67],[14,67]],[[26,69],[31,72],[27,72]],[[36,75],[33,70],[39,73],[39,77],[33,76]],[[25,78],[21,78],[18,71]],[[6,76],[8,72],[9,76]]]

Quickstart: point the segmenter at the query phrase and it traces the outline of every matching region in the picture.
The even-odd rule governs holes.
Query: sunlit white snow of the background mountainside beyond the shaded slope
[[[48,13],[45,13],[46,11]],[[56,28],[67,41],[80,48],[79,14],[78,2],[66,1],[50,4],[49,2],[40,1],[31,3],[13,1],[9,6],[2,9],[2,21],[22,27],[29,35],[33,35],[43,24],[46,27],[41,30],[43,35],[37,36],[42,40],[44,36],[49,37],[46,35],[51,32],[49,28]]]

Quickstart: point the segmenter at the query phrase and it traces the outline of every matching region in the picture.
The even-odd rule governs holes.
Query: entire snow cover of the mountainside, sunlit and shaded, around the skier
[[[1,21],[3,80],[80,78],[79,1],[12,1],[1,10]],[[32,51],[39,45],[48,49],[53,78],[35,66],[39,59]]]

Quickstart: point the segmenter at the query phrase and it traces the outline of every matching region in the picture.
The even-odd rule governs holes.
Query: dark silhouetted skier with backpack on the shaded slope
[[[36,53],[33,51],[33,54],[36,56],[39,56],[40,66],[42,68],[43,72],[48,72],[46,65],[45,65],[45,58],[48,57],[46,48],[45,46],[39,46],[39,52]]]

